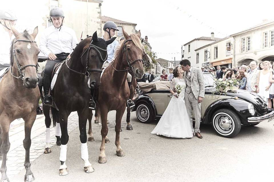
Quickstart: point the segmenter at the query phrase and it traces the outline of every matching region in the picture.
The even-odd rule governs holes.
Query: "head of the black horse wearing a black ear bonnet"
[[[92,41],[89,45],[84,47],[86,56],[82,56],[81,61],[82,65],[86,67],[90,78],[90,88],[98,88],[101,84],[101,73],[102,66],[104,61],[108,58],[107,46],[111,44],[116,37],[111,38],[110,40],[105,41],[104,39],[97,36],[97,31],[92,35]]]

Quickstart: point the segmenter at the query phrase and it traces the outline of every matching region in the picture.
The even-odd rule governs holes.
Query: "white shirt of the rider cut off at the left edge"
[[[0,64],[9,64],[9,49],[11,47],[11,41],[14,39],[14,35],[10,38],[9,33],[4,30],[4,27],[0,25]]]

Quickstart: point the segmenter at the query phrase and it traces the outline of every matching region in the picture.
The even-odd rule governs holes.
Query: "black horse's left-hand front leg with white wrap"
[[[59,160],[61,166],[59,167],[59,175],[64,176],[68,174],[68,169],[66,165],[67,160],[67,144],[68,144],[68,114],[59,112],[59,121],[61,127],[61,150]]]

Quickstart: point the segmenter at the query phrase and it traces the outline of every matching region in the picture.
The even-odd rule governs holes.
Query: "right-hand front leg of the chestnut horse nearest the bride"
[[[115,136],[115,145],[117,147],[116,149],[116,155],[119,157],[125,156],[124,155],[124,151],[120,146],[120,130],[121,130],[121,120],[123,117],[123,114],[125,112],[125,107],[122,107],[121,109],[116,110],[116,119],[115,119],[115,132],[116,132],[116,136]]]

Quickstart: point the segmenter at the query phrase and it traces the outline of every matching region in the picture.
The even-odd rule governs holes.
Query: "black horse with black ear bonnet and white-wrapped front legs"
[[[84,171],[91,173],[94,171],[88,161],[88,148],[86,144],[86,122],[89,115],[88,103],[90,100],[90,89],[96,89],[100,85],[102,65],[107,59],[107,46],[116,37],[105,41],[97,37],[94,32],[92,38],[82,40],[74,49],[69,60],[63,63],[52,95],[55,108],[51,108],[53,122],[60,121],[61,127],[61,150],[59,175],[67,175],[67,143],[68,143],[68,115],[72,111],[77,111],[79,117],[79,130],[81,141],[81,158],[84,160]]]

